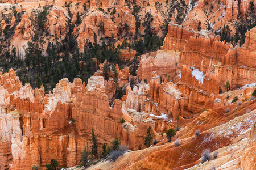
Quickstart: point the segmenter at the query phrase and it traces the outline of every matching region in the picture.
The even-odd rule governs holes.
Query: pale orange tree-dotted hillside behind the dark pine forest
[[[14,32],[6,35],[1,32],[3,40],[10,45],[1,43],[3,52],[11,46],[20,48],[24,55],[23,46],[27,42],[36,42],[44,49],[48,42],[60,42],[69,31],[69,24],[75,28],[72,33],[76,37],[81,51],[89,42],[115,41],[116,45],[124,41],[133,41],[134,37],[143,35],[159,35],[166,33],[168,22],[183,25],[194,30],[208,29],[221,31],[224,25],[229,26],[230,34],[236,33],[236,24],[252,21],[255,15],[255,1],[3,1],[0,5],[1,29],[13,27]],[[13,10],[15,6],[15,10]],[[47,8],[47,20],[41,27],[36,25],[36,16]],[[18,12],[19,15],[16,15]],[[24,12],[26,11],[26,12]],[[15,16],[13,15],[15,14]],[[80,14],[77,21],[77,14]],[[199,25],[200,21],[200,25]],[[44,20],[42,20],[44,22]],[[246,25],[245,24],[245,25]],[[248,24],[251,24],[248,23]],[[40,32],[42,29],[43,32]],[[39,31],[39,32],[38,32]],[[53,36],[52,36],[53,35]],[[54,37],[56,35],[56,37]],[[39,36],[39,43],[35,38]],[[5,40],[6,41],[6,40]],[[55,42],[55,43],[56,43]]]

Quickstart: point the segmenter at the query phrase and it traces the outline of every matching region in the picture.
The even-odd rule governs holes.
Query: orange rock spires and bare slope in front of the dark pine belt
[[[111,68],[110,79],[104,80],[104,63],[86,86],[79,78],[73,83],[63,78],[49,94],[45,94],[43,86],[22,86],[12,69],[1,74],[1,169],[31,169],[33,164],[46,169],[45,164],[52,158],[60,166],[75,166],[92,128],[98,134],[99,147],[118,137],[130,150],[138,150],[144,148],[142,137],[148,126],[159,140],[156,146],[91,168],[209,169],[215,165],[252,169],[255,159],[249,155],[255,148],[256,104],[251,96],[255,89],[251,84],[255,82],[254,41],[255,28],[246,33],[245,45],[234,48],[212,32],[170,24],[162,49],[141,56],[137,79],[147,81],[138,81],[135,86],[129,84],[129,67],[121,71],[116,66],[116,77]],[[225,89],[226,80],[234,91],[218,94],[219,86]],[[251,85],[238,89],[236,84]],[[126,94],[112,104],[109,99],[122,86],[127,86]],[[238,101],[231,104],[235,96]],[[174,139],[167,142],[160,133],[174,128],[177,116],[181,130],[175,138],[180,139],[180,146],[174,147]],[[126,122],[119,123],[121,118]],[[197,129],[200,135],[194,137]],[[205,148],[218,150],[219,155],[200,164]]]

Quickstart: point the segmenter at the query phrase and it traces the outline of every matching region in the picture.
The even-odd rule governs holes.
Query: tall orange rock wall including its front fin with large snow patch
[[[233,89],[237,84],[244,86],[255,82],[252,76],[255,74],[254,29],[246,33],[246,43],[241,48],[233,48],[212,32],[195,32],[170,24],[162,50],[141,56],[138,78],[152,77],[151,81],[157,82],[155,76],[151,76],[152,71],[157,71],[159,82],[160,79],[174,80],[175,87],[183,94],[184,107],[190,112],[200,112],[203,107],[220,107],[225,102],[215,101],[219,87],[224,90],[227,80]],[[155,84],[153,82],[151,84]],[[157,86],[150,91],[153,100],[158,98]]]

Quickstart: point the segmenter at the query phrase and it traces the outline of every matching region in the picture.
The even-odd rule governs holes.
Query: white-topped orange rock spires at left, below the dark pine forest
[[[121,82],[127,79],[129,69],[126,70],[118,71]],[[133,120],[132,114],[123,111],[119,99],[110,107],[102,76],[92,76],[86,87],[81,79],[76,78],[70,83],[63,78],[52,94],[47,95],[43,86],[39,89],[32,89],[30,84],[22,86],[12,69],[9,73],[1,73],[0,83],[0,142],[6,144],[0,147],[0,158],[4,160],[0,166],[3,169],[9,168],[9,164],[11,169],[31,169],[33,164],[44,168],[52,158],[57,158],[61,166],[77,165],[92,128],[99,134],[99,148],[118,137],[131,149],[141,145],[149,125],[159,128],[152,119],[148,121],[148,116],[144,121],[137,118],[137,122],[127,121],[129,124],[122,126],[119,120],[122,117]],[[9,86],[5,86],[6,83]],[[144,86],[139,91],[147,94],[148,86]],[[144,95],[139,96],[143,103],[146,100]],[[133,100],[132,97],[126,98]],[[71,118],[75,118],[75,124]]]

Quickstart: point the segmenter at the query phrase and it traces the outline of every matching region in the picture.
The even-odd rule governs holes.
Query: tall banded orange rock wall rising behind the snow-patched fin
[[[220,37],[214,36],[212,32],[195,32],[176,24],[169,24],[168,34],[163,42],[163,52],[158,51],[156,57],[143,56],[138,75],[142,79],[148,79],[149,73],[159,69],[160,76],[169,74],[174,79],[175,76],[180,76],[176,71],[182,70],[183,65],[188,65],[203,71],[205,79],[217,82],[212,86],[214,89],[209,90],[213,93],[217,93],[216,86],[224,89],[227,80],[231,82],[232,88],[236,88],[237,84],[251,84],[255,82],[255,78],[251,76],[255,74],[254,36],[255,28],[246,33],[246,43],[241,48],[233,48],[231,44],[221,42]],[[160,59],[163,62],[160,62]],[[201,87],[204,90],[211,84],[206,83],[207,81],[205,88]]]

